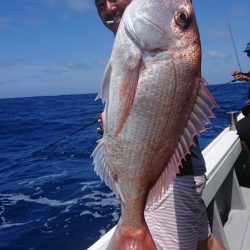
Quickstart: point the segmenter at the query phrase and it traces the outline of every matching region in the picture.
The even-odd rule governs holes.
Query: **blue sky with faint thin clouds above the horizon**
[[[193,0],[210,84],[239,69],[223,2],[242,70],[250,70],[250,1]],[[0,0],[0,98],[96,93],[113,40],[94,0]]]

